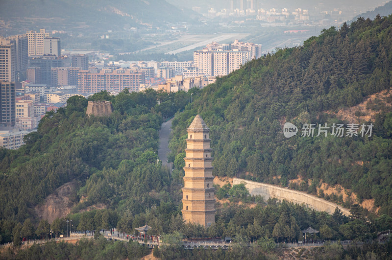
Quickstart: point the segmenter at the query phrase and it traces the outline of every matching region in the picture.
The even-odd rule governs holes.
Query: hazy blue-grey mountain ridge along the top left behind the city
[[[47,18],[46,24],[79,24],[81,30],[157,27],[190,21],[188,14],[165,0],[2,0],[0,5],[0,17],[5,20]]]

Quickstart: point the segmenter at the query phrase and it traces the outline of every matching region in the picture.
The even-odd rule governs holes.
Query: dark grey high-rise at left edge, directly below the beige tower
[[[0,81],[1,126],[15,126],[15,83]]]

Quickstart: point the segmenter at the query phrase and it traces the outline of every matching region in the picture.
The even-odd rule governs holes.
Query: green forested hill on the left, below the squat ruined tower
[[[152,205],[161,214],[175,213],[178,202],[172,200],[177,198],[167,195],[171,173],[156,162],[158,130],[163,118],[185,107],[191,93],[149,90],[124,91],[115,97],[106,92],[92,95],[89,100],[112,101],[110,117],[86,116],[88,100],[73,96],[66,108],[48,112],[20,149],[1,148],[0,243],[15,234],[16,240],[33,236],[19,225],[26,219],[37,224],[34,207],[71,181],[77,183],[70,197],[75,213],[97,203],[106,205],[115,218],[126,210],[132,215],[144,213]]]

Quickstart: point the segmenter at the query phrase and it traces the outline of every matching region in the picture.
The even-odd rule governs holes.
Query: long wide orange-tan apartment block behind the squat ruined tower
[[[97,93],[101,90],[122,92],[124,89],[137,92],[144,83],[142,71],[102,69],[97,72],[79,71],[77,87],[79,93]]]

